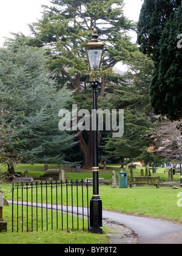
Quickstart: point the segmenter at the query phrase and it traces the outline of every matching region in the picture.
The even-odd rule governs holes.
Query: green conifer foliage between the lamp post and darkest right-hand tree
[[[107,137],[106,145],[103,146],[109,157],[121,158],[122,161],[130,158],[130,162],[143,160],[142,153],[152,145],[151,127],[156,121],[149,102],[152,71],[152,60],[141,52],[135,52],[132,54],[125,84],[115,85],[113,92],[106,94],[103,104],[110,108],[124,109],[123,137]]]

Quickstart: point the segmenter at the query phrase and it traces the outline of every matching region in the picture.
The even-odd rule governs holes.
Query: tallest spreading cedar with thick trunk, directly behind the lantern
[[[34,43],[48,49],[51,57],[49,67],[55,72],[59,84],[67,84],[73,88],[77,102],[78,99],[86,99],[91,95],[86,95],[90,93],[90,82],[85,43],[90,42],[94,27],[99,41],[106,42],[99,82],[99,101],[104,96],[107,82],[115,77],[112,73],[113,66],[120,61],[127,62],[130,52],[136,49],[127,35],[134,24],[124,16],[123,5],[123,0],[53,0],[52,7],[44,7],[42,19],[30,26],[35,36]],[[83,102],[78,103],[83,105]],[[92,105],[87,105],[90,111]],[[92,132],[79,133],[77,139],[83,155],[83,168],[90,169]]]

